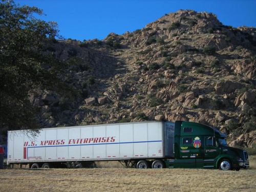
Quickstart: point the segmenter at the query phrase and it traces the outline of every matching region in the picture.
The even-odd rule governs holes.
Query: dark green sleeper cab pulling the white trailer
[[[229,147],[226,135],[210,126],[176,121],[174,131],[174,159],[166,160],[169,168],[220,168],[239,170],[248,168],[248,154]]]

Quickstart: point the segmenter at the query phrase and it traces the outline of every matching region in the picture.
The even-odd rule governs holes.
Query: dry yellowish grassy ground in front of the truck
[[[0,169],[0,191],[256,191],[256,170]]]

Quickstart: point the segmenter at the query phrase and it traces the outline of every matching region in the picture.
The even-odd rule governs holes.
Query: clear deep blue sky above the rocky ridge
[[[35,6],[54,21],[59,34],[76,40],[104,39],[109,33],[133,32],[165,13],[180,9],[214,13],[224,25],[256,27],[256,0],[14,0]]]

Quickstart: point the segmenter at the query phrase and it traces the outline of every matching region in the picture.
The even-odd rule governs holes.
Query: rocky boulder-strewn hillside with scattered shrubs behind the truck
[[[54,40],[47,52],[70,63],[62,78],[74,96],[39,90],[30,100],[41,127],[186,120],[256,147],[255,46],[255,28],[193,10],[103,40]]]

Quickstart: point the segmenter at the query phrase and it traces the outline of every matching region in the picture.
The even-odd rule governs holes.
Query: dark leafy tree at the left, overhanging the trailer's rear
[[[61,87],[63,63],[44,54],[58,35],[55,22],[35,18],[41,9],[0,0],[0,130],[37,129],[36,108],[28,99],[35,89]]]

